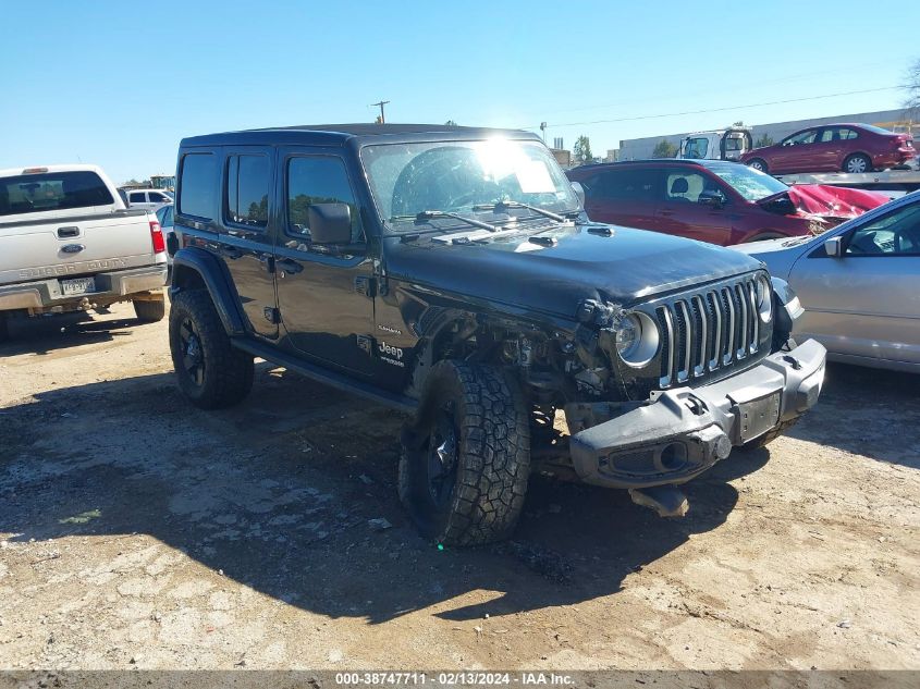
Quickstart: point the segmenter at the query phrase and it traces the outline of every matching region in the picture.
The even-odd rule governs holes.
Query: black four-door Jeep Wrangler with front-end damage
[[[535,471],[683,514],[675,485],[821,391],[823,347],[787,343],[785,283],[729,249],[589,222],[529,133],[186,138],[174,226],[185,395],[235,404],[262,357],[410,413],[400,494],[438,542],[506,536]]]

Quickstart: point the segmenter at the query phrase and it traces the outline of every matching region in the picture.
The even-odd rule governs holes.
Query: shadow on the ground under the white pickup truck
[[[0,357],[21,354],[45,356],[59,349],[113,342],[130,335],[131,328],[143,323],[131,319],[103,319],[85,311],[54,313],[10,321],[10,339],[0,344]]]

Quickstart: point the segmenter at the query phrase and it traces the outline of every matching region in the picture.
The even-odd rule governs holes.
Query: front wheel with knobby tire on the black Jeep
[[[498,369],[432,367],[403,433],[400,499],[425,538],[476,545],[507,537],[530,473],[529,415]]]

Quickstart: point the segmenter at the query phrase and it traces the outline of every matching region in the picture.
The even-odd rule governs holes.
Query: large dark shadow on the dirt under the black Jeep
[[[0,410],[9,540],[146,533],[278,600],[371,623],[426,608],[499,617],[614,594],[630,573],[719,528],[738,499],[726,481],[769,456],[733,455],[687,487],[690,512],[673,520],[624,491],[535,479],[512,541],[439,549],[395,496],[403,417],[270,365],[224,411],[188,406],[171,374],[34,399]],[[370,521],[379,518],[392,527]],[[154,587],[156,575],[135,575]],[[488,600],[469,604],[470,592]]]

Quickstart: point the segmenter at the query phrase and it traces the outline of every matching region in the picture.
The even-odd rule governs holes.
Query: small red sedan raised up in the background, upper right
[[[790,172],[872,172],[901,165],[917,156],[910,134],[871,124],[824,124],[755,148],[743,163],[771,174]]]

